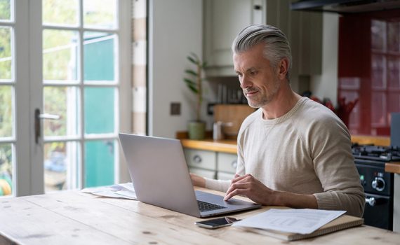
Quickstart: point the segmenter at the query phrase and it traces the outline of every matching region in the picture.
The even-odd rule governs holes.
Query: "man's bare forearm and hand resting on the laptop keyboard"
[[[227,201],[235,195],[245,195],[253,202],[262,205],[286,206],[298,209],[318,209],[318,204],[314,195],[271,190],[258,181],[258,179],[255,179],[251,174],[246,174],[244,176],[235,174],[224,200]]]

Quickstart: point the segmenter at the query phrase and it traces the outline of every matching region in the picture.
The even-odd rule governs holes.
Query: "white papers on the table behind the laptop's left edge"
[[[91,193],[102,197],[126,198],[138,200],[132,182],[116,184],[114,186],[101,186],[95,188],[84,188],[83,193]]]

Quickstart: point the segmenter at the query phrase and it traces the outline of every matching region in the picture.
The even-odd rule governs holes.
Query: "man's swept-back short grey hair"
[[[234,38],[232,43],[232,52],[239,54],[250,50],[259,43],[265,43],[264,57],[271,62],[273,69],[276,69],[281,59],[289,60],[288,73],[286,78],[290,80],[290,71],[292,68],[291,45],[288,38],[278,28],[272,25],[249,25],[244,28]]]

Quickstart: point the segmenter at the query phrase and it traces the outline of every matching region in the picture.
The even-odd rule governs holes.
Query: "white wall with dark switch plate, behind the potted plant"
[[[194,94],[182,78],[187,55],[201,55],[202,47],[203,1],[149,1],[149,135],[175,138],[195,119]],[[180,116],[170,116],[171,102],[180,102]]]

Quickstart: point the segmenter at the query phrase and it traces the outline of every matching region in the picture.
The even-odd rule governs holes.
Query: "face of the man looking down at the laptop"
[[[240,87],[249,106],[260,108],[276,96],[280,81],[278,74],[263,55],[264,44],[260,43],[246,52],[234,54],[234,70],[239,76]]]

